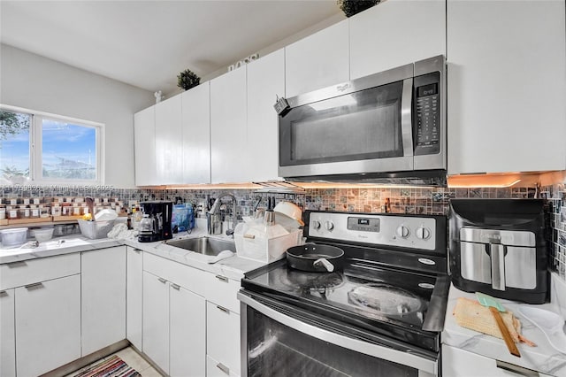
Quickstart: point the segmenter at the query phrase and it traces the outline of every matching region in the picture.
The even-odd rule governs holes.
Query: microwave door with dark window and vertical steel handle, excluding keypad
[[[413,170],[413,65],[288,99],[279,176]]]

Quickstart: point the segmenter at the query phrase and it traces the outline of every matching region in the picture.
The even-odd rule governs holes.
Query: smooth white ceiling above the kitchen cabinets
[[[172,94],[187,68],[209,80],[340,19],[336,0],[0,0],[0,42]]]

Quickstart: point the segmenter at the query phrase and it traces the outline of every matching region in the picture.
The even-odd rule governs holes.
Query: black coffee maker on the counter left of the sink
[[[138,241],[156,242],[171,239],[173,203],[157,200],[142,202],[140,206],[143,218],[138,230]]]

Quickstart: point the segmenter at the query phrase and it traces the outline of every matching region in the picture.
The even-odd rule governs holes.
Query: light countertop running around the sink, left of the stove
[[[188,235],[183,232],[180,235],[174,235],[173,238],[200,237],[206,235],[206,229],[203,227],[195,228]],[[219,235],[218,238],[229,239],[225,235]],[[63,241],[63,242],[62,242]],[[145,252],[157,255],[158,257],[167,258],[183,265],[217,273],[226,276],[229,279],[241,280],[243,274],[264,265],[253,259],[240,258],[237,255],[220,260],[215,264],[209,264],[210,256],[205,256],[194,251],[184,250],[170,246],[164,242],[138,242],[137,239],[111,239],[103,238],[99,240],[90,240],[83,235],[66,235],[56,237],[47,242],[40,242],[35,248],[14,248],[3,249],[0,247],[0,264],[20,262],[34,258],[45,258],[74,252],[82,252],[88,250],[97,250],[110,248],[113,246],[127,245]]]

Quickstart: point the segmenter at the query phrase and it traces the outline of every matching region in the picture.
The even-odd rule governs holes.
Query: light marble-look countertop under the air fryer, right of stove
[[[554,279],[559,278],[553,277],[553,280]],[[553,286],[555,286],[554,283]],[[536,347],[530,347],[525,343],[518,343],[517,348],[521,353],[521,358],[516,358],[509,353],[509,350],[502,339],[460,327],[455,322],[452,312],[454,311],[458,297],[476,299],[476,296],[473,293],[463,292],[462,290],[455,289],[454,286],[450,287],[446,322],[441,338],[442,343],[485,356],[486,358],[493,358],[514,365],[523,366],[525,368],[536,370],[540,373],[566,377],[566,354],[555,350],[547,341],[547,337],[544,333],[539,330],[539,327],[533,325],[531,321],[525,319],[521,312],[519,312],[519,307],[525,304],[499,299],[505,309],[513,312],[516,318],[520,320],[522,334],[524,337],[537,344]],[[552,302],[552,299],[551,303],[530,306],[561,313],[560,306]],[[563,315],[564,313],[562,313],[562,316]]]

